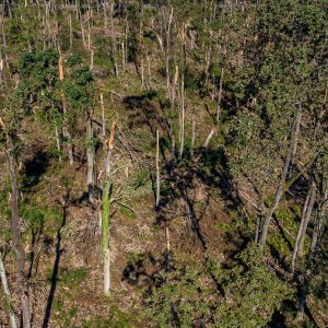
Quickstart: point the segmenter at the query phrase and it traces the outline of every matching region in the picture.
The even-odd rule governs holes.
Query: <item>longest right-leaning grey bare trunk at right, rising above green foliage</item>
[[[288,171],[289,171],[290,163],[292,160],[293,150],[295,148],[295,143],[297,143],[297,140],[298,140],[297,138],[298,138],[298,131],[300,131],[301,117],[302,117],[302,110],[301,110],[301,105],[300,105],[295,121],[292,127],[291,145],[290,145],[289,152],[284,160],[284,167],[283,167],[283,171],[282,171],[282,174],[280,177],[280,181],[277,186],[274,200],[273,200],[271,208],[269,208],[266,219],[265,219],[265,222],[263,222],[263,226],[262,226],[262,231],[261,231],[261,235],[260,235],[260,242],[259,242],[260,250],[263,250],[263,248],[265,248],[265,245],[267,242],[267,236],[268,236],[268,229],[269,229],[272,215],[276,212],[276,210],[278,209],[281,196],[283,194],[283,186],[284,186],[284,183],[285,183],[285,179],[288,176]]]

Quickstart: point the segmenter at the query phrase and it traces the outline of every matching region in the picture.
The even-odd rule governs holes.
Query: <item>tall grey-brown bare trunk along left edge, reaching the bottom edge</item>
[[[20,242],[20,216],[19,216],[19,185],[15,172],[14,147],[11,136],[7,134],[7,164],[11,184],[11,233],[12,246],[16,254],[16,265],[19,272],[19,288],[21,294],[23,328],[31,327],[28,286],[25,274],[25,250]]]

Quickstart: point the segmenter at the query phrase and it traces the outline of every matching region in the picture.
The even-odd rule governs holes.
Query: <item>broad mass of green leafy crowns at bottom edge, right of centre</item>
[[[147,302],[160,327],[263,327],[292,292],[261,262],[256,247],[224,269],[211,257],[206,265],[175,260],[173,271],[162,273],[156,284]]]

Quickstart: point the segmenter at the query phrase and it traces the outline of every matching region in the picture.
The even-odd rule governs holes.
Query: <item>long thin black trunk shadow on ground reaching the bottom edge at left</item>
[[[59,262],[60,262],[60,258],[61,258],[61,255],[62,255],[62,251],[63,251],[61,249],[61,231],[66,225],[68,206],[69,206],[69,191],[67,191],[67,194],[65,196],[65,200],[61,203],[62,221],[61,221],[61,224],[60,224],[60,226],[57,231],[56,257],[55,257],[55,262],[54,262],[54,269],[52,269],[52,274],[51,274],[51,286],[50,286],[50,291],[49,291],[49,295],[48,295],[48,300],[47,300],[43,328],[47,328],[48,325],[49,325],[54,297],[55,297],[55,293],[56,293],[56,289],[57,289],[57,281],[58,281],[57,278],[58,278],[58,272],[59,272]]]

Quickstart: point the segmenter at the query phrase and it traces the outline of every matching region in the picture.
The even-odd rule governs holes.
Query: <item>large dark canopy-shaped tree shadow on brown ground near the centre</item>
[[[177,214],[186,218],[188,224],[202,248],[207,249],[207,241],[200,227],[200,220],[204,211],[198,213],[196,210],[197,199],[195,189],[201,185],[206,190],[207,203],[211,190],[218,190],[225,201],[226,209],[242,210],[242,200],[233,181],[230,165],[224,150],[199,148],[194,151],[194,157],[188,160],[168,161],[164,167],[165,180],[161,189],[161,200],[156,208],[156,224],[167,224],[171,220],[167,210],[174,209]],[[177,203],[185,206],[178,209]]]

